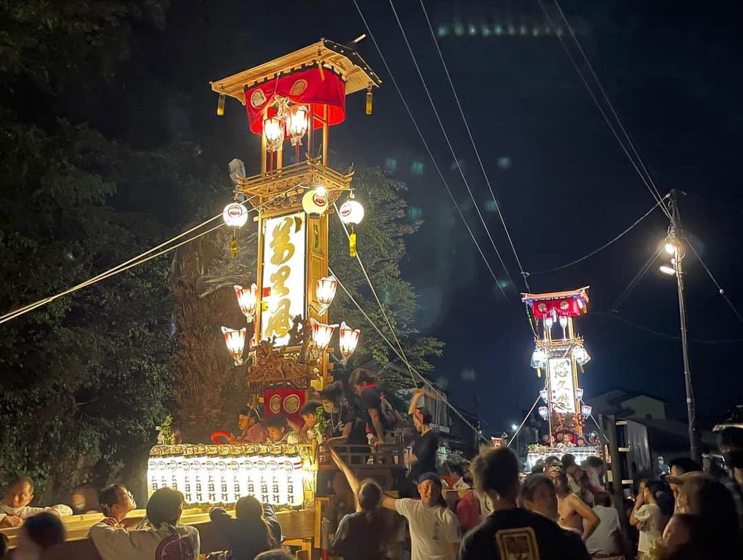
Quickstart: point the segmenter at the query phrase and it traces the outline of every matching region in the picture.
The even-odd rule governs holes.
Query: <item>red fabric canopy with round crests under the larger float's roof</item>
[[[334,71],[328,68],[309,68],[292,74],[270,79],[261,85],[245,90],[245,109],[250,122],[250,130],[256,134],[263,131],[263,110],[273,102],[274,97],[288,97],[292,102],[312,106],[312,112],[322,117],[322,105],[328,105],[328,124],[337,125],[345,120],[345,82]],[[268,116],[273,117],[276,108],[268,109]],[[314,128],[322,123],[314,121]]]

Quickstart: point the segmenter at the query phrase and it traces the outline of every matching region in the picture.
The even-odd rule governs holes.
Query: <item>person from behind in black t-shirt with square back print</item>
[[[481,452],[472,470],[475,489],[487,495],[493,512],[464,537],[459,560],[590,559],[576,535],[568,535],[544,515],[517,506],[519,460],[510,449]],[[554,515],[554,504],[551,509]]]

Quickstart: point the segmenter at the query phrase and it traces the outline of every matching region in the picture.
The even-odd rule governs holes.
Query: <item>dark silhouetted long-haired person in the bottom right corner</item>
[[[742,533],[733,496],[706,472],[669,476],[678,487],[676,513],[663,531],[663,559],[734,558]]]

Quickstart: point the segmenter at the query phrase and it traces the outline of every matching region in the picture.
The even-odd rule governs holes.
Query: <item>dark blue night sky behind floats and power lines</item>
[[[411,215],[425,224],[408,241],[403,275],[421,294],[421,331],[447,344],[444,356],[435,360],[435,377],[448,383],[452,398],[465,408],[473,408],[477,393],[478,412],[500,432],[521,420],[541,388],[529,367],[533,337],[519,302],[525,287],[493,202],[488,203],[490,194],[421,6],[418,1],[397,4],[452,146],[515,285],[478,223],[389,3],[360,1],[450,188],[504,283],[507,302],[455,212],[370,39],[358,49],[383,80],[374,92],[374,114],[363,114],[363,94],[348,98],[346,122],[331,130],[331,164],[335,159],[387,166],[392,177],[408,183]],[[167,118],[155,129],[142,124],[134,128],[118,119],[117,130],[111,132],[134,144],[194,141],[203,147],[202,157],[225,167],[233,157],[242,157],[248,173],[256,172],[257,158],[251,154],[258,137],[247,130],[244,110],[234,100],[228,100],[224,118],[214,116],[216,96],[209,80],[320,37],[347,42],[364,31],[352,1],[282,6],[270,19],[275,7],[256,11],[249,2],[227,1],[221,7],[173,2],[167,29],[143,39],[130,71],[130,84],[136,86],[131,94],[141,95],[145,105],[147,95],[167,96]],[[652,206],[649,191],[559,41],[541,31],[545,18],[536,0],[426,0],[426,7],[526,271],[556,267],[589,253]],[[699,10],[695,4],[671,1],[565,0],[562,7],[661,194],[672,188],[688,193],[680,201],[687,235],[695,239],[733,305],[743,311],[738,291],[743,268],[738,227],[743,214],[737,153],[743,140],[739,14],[727,12],[732,10],[727,4]],[[513,36],[507,33],[509,23],[516,28]],[[495,33],[499,25],[502,35]],[[571,51],[580,56],[574,44]],[[155,74],[160,91],[148,91],[148,76]],[[591,313],[577,322],[593,357],[581,379],[588,403],[591,394],[610,388],[646,391],[669,400],[669,412],[684,419],[681,345],[673,338],[678,336],[674,279],[658,273],[657,263],[618,310],[621,319],[669,337],[606,314],[663,241],[667,225],[656,209],[598,255],[557,273],[529,277],[533,292],[591,286]],[[684,265],[692,339],[743,339],[743,325],[692,254]],[[737,361],[741,348],[740,342],[692,343],[703,423],[743,394]]]

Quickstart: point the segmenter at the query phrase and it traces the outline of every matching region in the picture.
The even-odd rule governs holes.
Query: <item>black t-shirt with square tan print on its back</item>
[[[493,512],[462,540],[459,560],[590,560],[578,535],[527,509]]]

